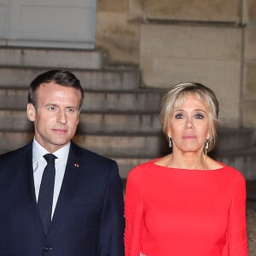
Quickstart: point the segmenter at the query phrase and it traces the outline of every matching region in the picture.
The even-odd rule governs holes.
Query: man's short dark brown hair
[[[77,79],[73,73],[67,70],[59,69],[53,69],[45,73],[41,73],[32,80],[32,83],[29,85],[27,102],[32,103],[35,108],[38,108],[37,90],[41,84],[49,84],[51,82],[55,82],[55,84],[73,87],[80,90],[81,101],[79,103],[79,108],[82,107],[84,100],[84,90],[82,88],[82,85],[80,84],[79,79]]]

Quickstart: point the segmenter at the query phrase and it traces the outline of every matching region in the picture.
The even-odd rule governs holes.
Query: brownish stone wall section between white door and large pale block
[[[140,24],[128,20],[128,0],[99,0],[96,13],[96,47],[108,61],[138,64]]]

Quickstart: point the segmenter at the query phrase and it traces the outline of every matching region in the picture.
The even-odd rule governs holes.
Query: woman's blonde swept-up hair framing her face
[[[199,83],[187,82],[176,84],[166,92],[161,102],[160,121],[163,131],[167,137],[170,116],[175,108],[185,101],[188,95],[195,95],[201,102],[205,103],[209,111],[210,120],[210,147],[207,152],[212,151],[217,143],[216,128],[218,125],[218,99],[214,92],[207,86]]]

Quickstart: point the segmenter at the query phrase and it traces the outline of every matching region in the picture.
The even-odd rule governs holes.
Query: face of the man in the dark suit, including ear
[[[34,122],[35,138],[50,153],[67,145],[79,124],[81,92],[50,82],[37,90],[38,108],[27,104],[27,117]]]

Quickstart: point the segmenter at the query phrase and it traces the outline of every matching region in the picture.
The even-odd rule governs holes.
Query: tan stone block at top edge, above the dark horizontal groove
[[[238,22],[239,0],[145,0],[148,20],[188,20]]]

